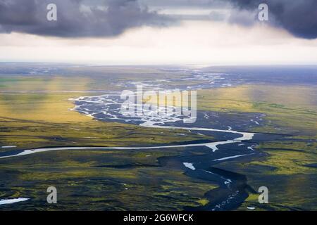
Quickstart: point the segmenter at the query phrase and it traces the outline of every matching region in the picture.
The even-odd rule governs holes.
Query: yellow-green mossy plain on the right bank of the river
[[[280,141],[256,147],[268,153],[253,162],[225,162],[221,169],[245,174],[254,189],[267,186],[268,205],[250,195],[239,210],[317,209],[316,86],[249,85],[201,91],[200,108],[225,112],[264,113],[265,125],[252,131],[287,134]]]

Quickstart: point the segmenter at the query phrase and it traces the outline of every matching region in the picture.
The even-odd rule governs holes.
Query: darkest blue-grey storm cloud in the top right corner
[[[304,39],[317,38],[317,1],[316,0],[229,0],[241,10],[254,12],[259,4],[266,3],[269,8],[268,23],[282,27],[295,37]],[[235,23],[245,23],[237,17]]]

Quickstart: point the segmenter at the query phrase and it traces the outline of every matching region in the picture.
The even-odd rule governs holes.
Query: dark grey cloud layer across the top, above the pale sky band
[[[46,6],[58,6],[58,21],[46,20]],[[53,37],[115,37],[133,27],[168,26],[177,20],[223,20],[213,15],[160,15],[156,8],[226,8],[229,23],[251,26],[258,6],[268,4],[271,26],[295,37],[317,38],[316,0],[1,0],[0,33],[22,32]],[[147,7],[149,6],[149,8]],[[225,20],[222,21],[225,23]]]

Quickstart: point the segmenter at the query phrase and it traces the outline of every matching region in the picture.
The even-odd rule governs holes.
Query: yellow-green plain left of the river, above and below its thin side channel
[[[91,79],[0,80],[5,87],[1,91],[6,92],[0,94],[0,146],[17,146],[0,148],[2,152],[44,146],[153,146],[198,139],[184,130],[99,122],[68,110],[74,107],[69,98],[96,95],[84,92],[86,86],[94,89],[99,85]],[[103,82],[108,83],[106,77]],[[111,85],[108,87],[111,90]],[[69,90],[79,93],[63,92]],[[216,186],[191,179],[181,169],[160,167],[157,162],[159,157],[180,154],[182,150],[175,148],[68,150],[0,159],[0,199],[31,198],[0,209],[182,210],[204,205],[204,193]],[[58,205],[46,203],[49,186],[58,188]]]

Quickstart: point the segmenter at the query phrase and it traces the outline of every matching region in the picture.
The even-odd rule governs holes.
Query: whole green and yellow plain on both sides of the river
[[[68,110],[74,106],[69,98],[120,89],[113,84],[180,75],[154,68],[98,67],[75,67],[68,76],[57,74],[1,75],[0,146],[17,146],[0,148],[1,152],[44,146],[153,146],[206,139],[184,130],[99,122]],[[198,92],[199,110],[264,113],[265,125],[251,131],[289,135],[279,141],[259,142],[256,149],[268,153],[265,158],[216,166],[244,174],[254,189],[268,186],[270,204],[260,205],[257,195],[249,195],[238,210],[249,206],[256,210],[317,210],[316,99],[316,86],[254,84]],[[158,158],[183,153],[177,148],[63,150],[0,159],[0,199],[31,198],[0,206],[0,210],[182,210],[206,205],[204,193],[216,184],[186,176],[173,162],[164,167],[158,163]],[[46,203],[49,186],[58,188],[57,205]]]

